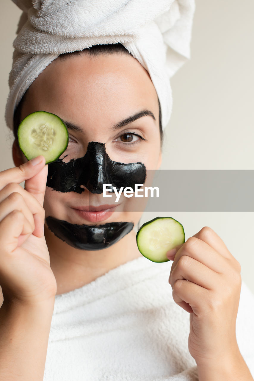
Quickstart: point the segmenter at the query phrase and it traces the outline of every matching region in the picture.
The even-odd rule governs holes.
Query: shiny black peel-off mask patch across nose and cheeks
[[[103,184],[132,187],[135,183],[144,184],[145,166],[142,163],[118,163],[110,159],[105,143],[89,142],[85,156],[64,163],[58,159],[48,165],[47,186],[59,192],[102,194]]]

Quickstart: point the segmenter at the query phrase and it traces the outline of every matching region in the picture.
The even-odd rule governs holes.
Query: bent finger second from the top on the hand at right
[[[170,274],[172,274],[177,262],[183,255],[187,255],[193,259],[196,259],[196,261],[204,264],[209,269],[219,274],[228,268],[228,259],[220,255],[206,242],[203,242],[196,237],[190,237],[177,251],[174,257],[174,262],[171,266]]]

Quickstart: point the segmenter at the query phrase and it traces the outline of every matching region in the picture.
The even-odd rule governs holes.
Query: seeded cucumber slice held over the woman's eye
[[[27,115],[18,127],[19,147],[28,160],[43,155],[46,164],[62,155],[69,143],[65,123],[55,114],[36,111]]]

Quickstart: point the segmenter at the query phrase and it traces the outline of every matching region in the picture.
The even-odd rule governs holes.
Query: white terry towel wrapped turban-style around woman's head
[[[161,104],[171,107],[169,78],[190,57],[194,0],[12,0],[23,11],[13,46],[5,119],[30,84],[61,53],[122,43],[147,69]]]

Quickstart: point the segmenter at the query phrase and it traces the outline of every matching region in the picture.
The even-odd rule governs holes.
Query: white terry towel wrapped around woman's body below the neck
[[[129,261],[57,295],[43,381],[197,381],[189,313],[172,298],[172,261]],[[242,285],[236,333],[254,375],[254,296]]]

